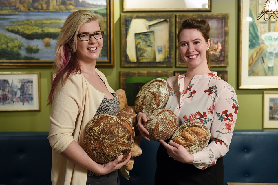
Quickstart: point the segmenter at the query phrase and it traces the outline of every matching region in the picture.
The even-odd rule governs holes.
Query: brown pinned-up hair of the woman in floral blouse
[[[180,33],[184,29],[197,29],[199,32],[202,33],[203,37],[205,38],[206,42],[209,41],[209,31],[211,30],[211,26],[209,23],[204,19],[194,19],[194,18],[187,18],[182,21],[180,24],[180,28],[177,34],[178,43],[180,43]],[[208,51],[206,51],[206,61],[208,63],[208,66],[211,62],[211,54]]]

